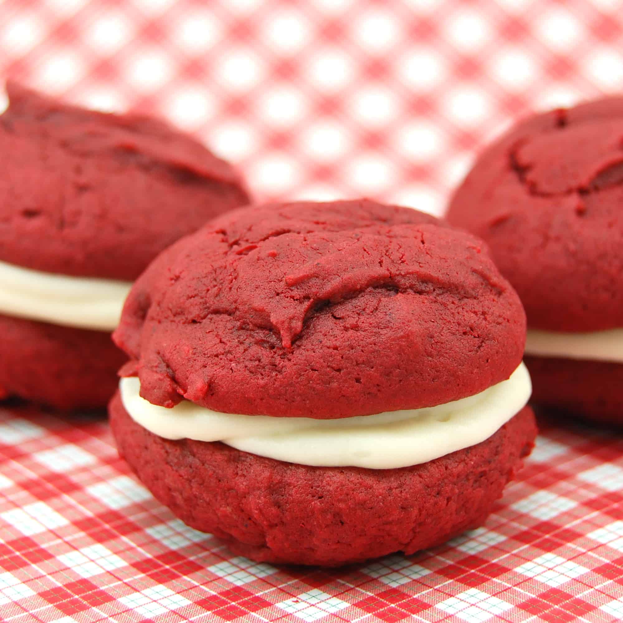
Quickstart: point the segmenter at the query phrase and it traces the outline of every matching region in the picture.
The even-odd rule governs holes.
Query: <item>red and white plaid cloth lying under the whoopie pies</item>
[[[547,428],[484,528],[334,571],[253,563],[184,526],[103,421],[0,411],[0,464],[2,621],[623,619],[623,439],[604,431]]]

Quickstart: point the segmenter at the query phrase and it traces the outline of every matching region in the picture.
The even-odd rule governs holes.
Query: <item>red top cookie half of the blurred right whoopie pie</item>
[[[623,326],[623,98],[518,123],[477,159],[447,218],[487,241],[531,327]]]

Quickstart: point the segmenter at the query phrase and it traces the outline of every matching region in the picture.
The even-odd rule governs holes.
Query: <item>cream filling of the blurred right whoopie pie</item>
[[[623,363],[623,329],[592,333],[528,329],[526,354]]]

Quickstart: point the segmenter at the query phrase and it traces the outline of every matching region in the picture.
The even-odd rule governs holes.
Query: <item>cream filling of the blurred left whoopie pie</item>
[[[125,281],[69,277],[0,262],[0,313],[113,331],[131,287]]]

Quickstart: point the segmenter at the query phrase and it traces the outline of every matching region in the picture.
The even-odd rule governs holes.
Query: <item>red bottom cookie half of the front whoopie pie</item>
[[[536,436],[525,407],[481,444],[422,465],[310,467],[163,439],[131,419],[119,394],[109,412],[121,456],[189,526],[256,561],[322,566],[412,554],[482,524]]]

